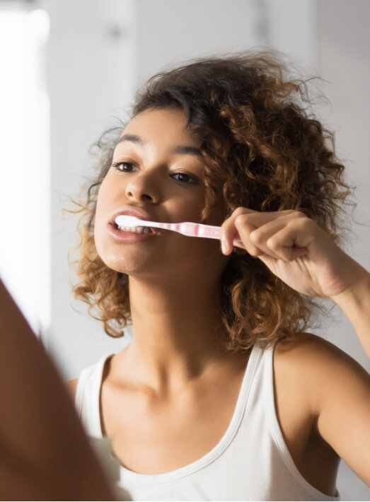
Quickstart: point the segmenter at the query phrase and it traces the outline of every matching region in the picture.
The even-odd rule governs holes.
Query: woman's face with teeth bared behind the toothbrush
[[[205,202],[200,140],[185,130],[180,110],[147,110],[134,117],[120,136],[112,167],[98,193],[96,249],[111,269],[129,275],[200,274],[226,264],[218,240],[185,237],[168,230],[122,231],[118,214],[163,222],[200,222]],[[207,218],[223,221],[221,202]],[[174,276],[173,276],[174,277]]]

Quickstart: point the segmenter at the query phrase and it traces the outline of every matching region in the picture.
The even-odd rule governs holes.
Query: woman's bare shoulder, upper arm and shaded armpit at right
[[[370,482],[370,375],[357,361],[314,334],[282,340],[274,351],[274,392],[288,448],[311,484],[333,488],[337,457]]]

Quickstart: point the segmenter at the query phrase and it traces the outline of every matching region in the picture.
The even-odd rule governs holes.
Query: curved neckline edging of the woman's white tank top
[[[181,477],[188,476],[189,474],[192,474],[192,472],[199,471],[200,469],[206,467],[210,463],[214,462],[217,457],[219,457],[226,448],[231,444],[231,441],[233,440],[234,436],[236,435],[236,432],[238,431],[238,428],[241,424],[241,421],[243,419],[243,414],[245,413],[245,409],[248,404],[248,395],[250,392],[250,387],[253,382],[253,376],[255,374],[256,368],[258,368],[258,363],[260,362],[260,358],[262,357],[262,351],[263,349],[258,346],[258,344],[255,344],[252,348],[252,351],[250,351],[250,356],[248,358],[246,367],[245,367],[245,373],[243,376],[243,380],[241,383],[241,388],[239,390],[239,395],[238,399],[236,401],[236,406],[233,411],[233,416],[231,418],[231,421],[229,423],[229,426],[226,428],[226,431],[224,433],[224,436],[221,437],[219,442],[210,450],[208,453],[200,457],[200,459],[195,460],[194,462],[191,462],[190,464],[187,464],[183,467],[179,467],[178,469],[174,469],[170,472],[164,472],[161,474],[141,474],[139,472],[134,472],[130,469],[127,469],[122,463],[120,462],[120,459],[115,455],[113,451],[111,451],[112,457],[115,458],[117,462],[120,463],[120,471],[125,477],[125,479],[130,479],[134,482],[145,482],[149,484],[153,483],[163,483],[167,481],[173,481],[174,479],[180,479]],[[100,417],[100,387],[101,387],[101,380],[103,377],[103,369],[105,366],[105,362],[108,361],[108,358],[112,357],[114,354],[109,354],[107,356],[104,356],[102,360],[100,361],[100,368],[99,368],[99,375],[100,375],[100,385],[98,387],[98,399],[96,400],[97,402],[97,409],[96,409],[96,423],[98,426],[98,433],[100,438],[107,438],[107,436],[103,436],[103,430],[102,430],[102,422],[101,422],[101,417]]]

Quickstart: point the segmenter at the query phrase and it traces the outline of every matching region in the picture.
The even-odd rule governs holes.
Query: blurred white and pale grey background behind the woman
[[[324,79],[318,116],[357,187],[346,248],[370,269],[369,19],[368,0],[0,0],[0,274],[64,379],[131,334],[110,339],[70,297],[77,218],[62,209],[92,174],[91,144],[173,64],[261,46]],[[316,333],[370,370],[339,311]],[[370,500],[343,462],[337,486]]]

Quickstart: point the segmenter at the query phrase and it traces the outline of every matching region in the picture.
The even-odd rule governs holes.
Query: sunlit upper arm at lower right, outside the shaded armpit
[[[370,485],[370,375],[345,352],[307,335],[295,358],[320,436]]]

